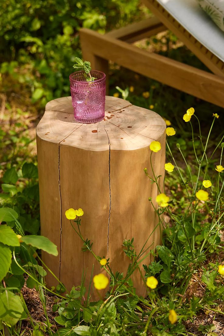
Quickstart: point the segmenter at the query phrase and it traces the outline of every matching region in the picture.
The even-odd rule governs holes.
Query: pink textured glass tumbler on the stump
[[[106,76],[101,71],[90,71],[94,81],[87,82],[83,71],[69,76],[74,117],[85,124],[96,123],[104,118]]]

